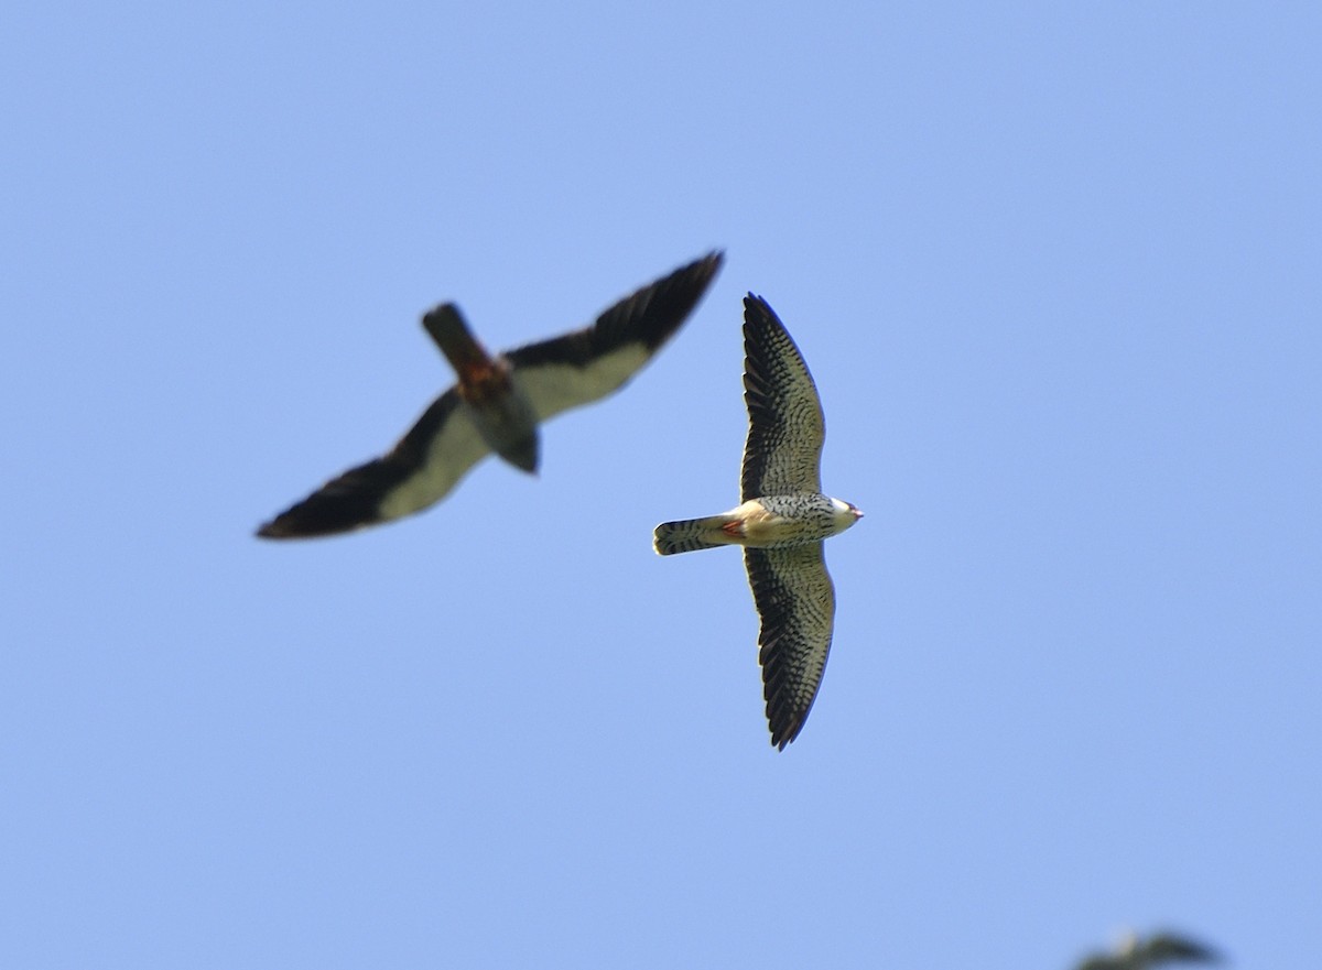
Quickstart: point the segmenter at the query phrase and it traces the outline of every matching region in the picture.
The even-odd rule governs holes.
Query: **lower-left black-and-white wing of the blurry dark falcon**
[[[486,453],[459,391],[451,387],[389,453],[332,478],[256,534],[304,539],[401,518],[443,498]]]

